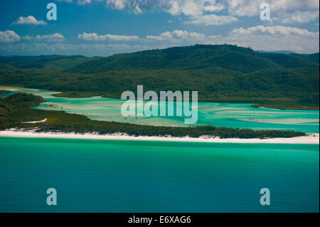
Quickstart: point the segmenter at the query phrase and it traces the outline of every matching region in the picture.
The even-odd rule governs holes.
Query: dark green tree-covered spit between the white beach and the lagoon
[[[201,137],[210,135],[220,138],[273,138],[298,137],[304,132],[282,130],[249,130],[228,127],[197,126],[197,127],[156,127],[133,125],[119,122],[103,122],[90,120],[83,115],[69,114],[55,110],[35,110],[31,107],[43,102],[41,96],[26,93],[16,93],[9,97],[0,97],[0,130],[9,128],[33,129],[37,132],[97,132],[112,134],[117,132],[133,136],[171,136],[171,137]],[[22,123],[47,119],[41,123]]]

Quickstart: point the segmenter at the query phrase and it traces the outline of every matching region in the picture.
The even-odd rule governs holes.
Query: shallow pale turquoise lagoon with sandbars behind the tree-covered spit
[[[139,125],[190,126],[184,124],[184,117],[177,116],[123,117],[120,108],[124,100],[105,97],[54,97],[55,92],[28,88],[0,86],[0,89],[41,95],[48,102],[42,102],[36,107],[38,109],[75,112],[92,120],[129,122]],[[319,132],[319,110],[275,110],[255,108],[245,103],[199,102],[196,125]]]

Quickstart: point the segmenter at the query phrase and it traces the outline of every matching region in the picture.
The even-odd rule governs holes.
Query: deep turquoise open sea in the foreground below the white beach
[[[56,211],[319,212],[319,145],[0,137],[0,212]]]

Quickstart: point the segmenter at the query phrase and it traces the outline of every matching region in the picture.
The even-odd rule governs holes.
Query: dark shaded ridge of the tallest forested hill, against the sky
[[[163,50],[117,54],[80,63],[69,73],[101,73],[109,70],[197,70],[218,67],[240,73],[278,68],[319,68],[319,53],[311,55],[259,53],[231,45],[196,45]]]

